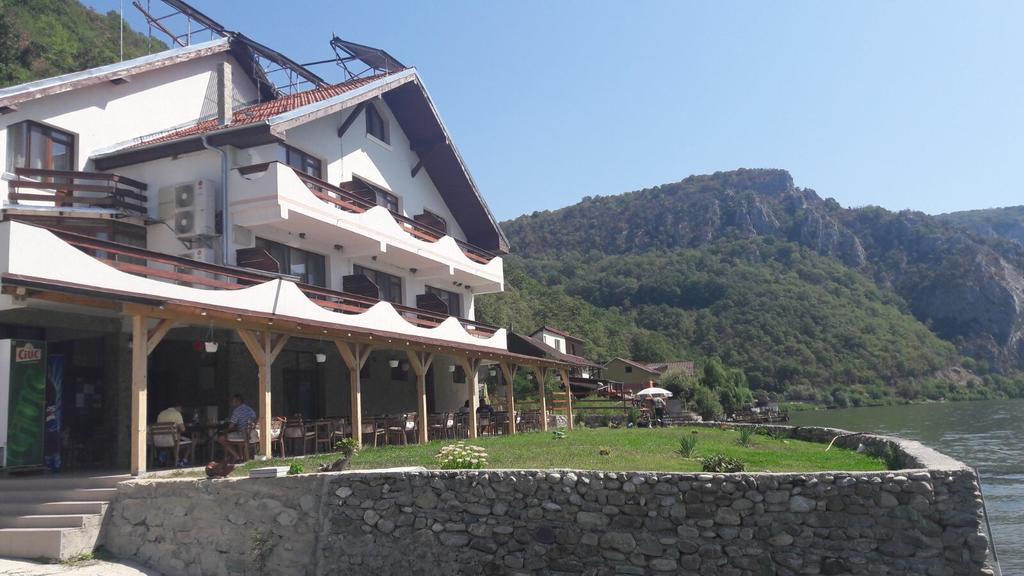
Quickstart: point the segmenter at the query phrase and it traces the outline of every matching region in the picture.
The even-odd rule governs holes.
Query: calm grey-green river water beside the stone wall
[[[791,413],[794,425],[921,441],[981,474],[1004,574],[1024,574],[1024,400]]]

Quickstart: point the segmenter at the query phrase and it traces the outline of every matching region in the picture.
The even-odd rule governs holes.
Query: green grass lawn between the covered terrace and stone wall
[[[683,458],[676,450],[679,439],[696,431],[697,446],[692,458]],[[775,440],[756,435],[750,447],[737,443],[735,430],[703,427],[670,428],[578,428],[556,440],[552,433],[529,433],[468,441],[486,449],[488,468],[571,468],[610,471],[700,471],[700,458],[716,452],[731,456],[746,465],[746,471],[823,471],[884,470],[883,460],[851,450],[798,440]],[[396,466],[437,468],[434,455],[444,444],[364,448],[352,460],[352,469]],[[602,456],[607,448],[610,454]],[[302,464],[305,471],[332,461],[337,455],[324,454],[297,458],[273,458],[249,462],[232,476],[244,476],[249,468],[267,465]]]

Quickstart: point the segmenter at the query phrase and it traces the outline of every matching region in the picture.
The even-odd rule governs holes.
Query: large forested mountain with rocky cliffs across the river
[[[536,285],[517,292],[510,275],[509,294],[480,298],[489,320],[557,324],[537,312],[553,288],[629,321],[634,356],[719,356],[755,387],[824,401],[991,395],[1024,364],[1024,247],[919,212],[844,209],[783,170],[586,198],[503,228],[509,268]]]

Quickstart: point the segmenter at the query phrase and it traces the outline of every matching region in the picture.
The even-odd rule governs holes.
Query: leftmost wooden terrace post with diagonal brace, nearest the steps
[[[141,315],[131,317],[131,474],[145,472],[145,433],[150,396],[150,354],[174,328],[171,320],[162,320],[153,330],[146,328],[147,319]]]

